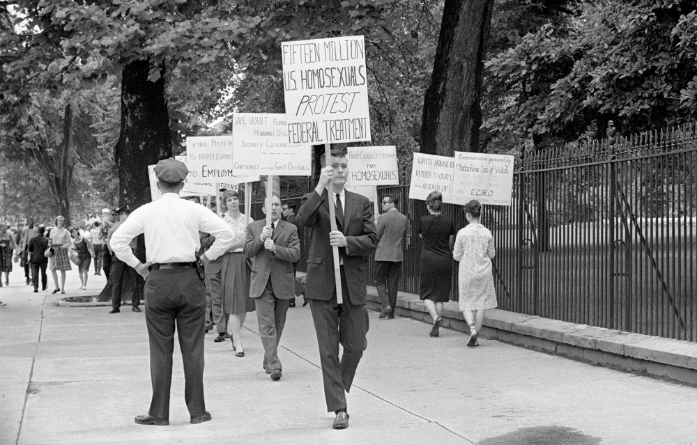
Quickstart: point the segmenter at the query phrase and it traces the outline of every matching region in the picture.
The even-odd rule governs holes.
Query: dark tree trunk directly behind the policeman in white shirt
[[[115,159],[118,167],[118,202],[135,210],[150,202],[148,165],[172,155],[169,133],[169,112],[164,91],[164,65],[160,66],[160,79],[149,81],[150,63],[135,61],[121,73],[121,132],[116,143]],[[145,263],[145,241],[137,240],[135,256]],[[125,278],[126,274],[124,274]],[[109,277],[111,280],[111,276]],[[122,301],[130,301],[133,288],[124,279]],[[138,286],[143,280],[138,276]],[[112,283],[102,290],[99,301],[111,298]]]

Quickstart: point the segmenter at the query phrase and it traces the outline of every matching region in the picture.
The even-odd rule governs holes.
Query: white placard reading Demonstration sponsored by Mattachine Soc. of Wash
[[[487,153],[454,153],[453,203],[511,205],[514,157]]]

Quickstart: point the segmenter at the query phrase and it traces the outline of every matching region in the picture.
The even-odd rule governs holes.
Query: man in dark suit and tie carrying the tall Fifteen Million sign
[[[314,192],[302,197],[298,221],[312,228],[305,298],[310,302],[319,344],[327,410],[336,414],[332,428],[342,429],[348,428],[344,391],[351,389],[358,362],[367,347],[365,258],[375,251],[378,237],[368,198],[344,189],[348,177],[346,154],[332,151],[330,159],[322,157],[321,164]],[[328,196],[329,182],[334,196]],[[337,231],[331,230],[330,205],[336,206]],[[337,304],[334,246],[339,247],[342,304]],[[344,348],[341,359],[339,344]]]

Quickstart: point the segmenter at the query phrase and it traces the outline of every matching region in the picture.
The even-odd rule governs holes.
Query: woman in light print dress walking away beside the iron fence
[[[484,311],[498,306],[491,266],[496,249],[491,232],[480,222],[481,214],[479,201],[472,200],[465,205],[465,217],[469,224],[457,233],[452,250],[452,258],[460,262],[459,306],[470,328],[467,343],[470,348],[479,346],[477,336],[482,330]]]

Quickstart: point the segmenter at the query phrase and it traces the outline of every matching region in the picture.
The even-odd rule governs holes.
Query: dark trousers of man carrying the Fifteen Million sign
[[[322,365],[324,398],[327,411],[346,409],[346,394],[351,389],[358,362],[367,348],[368,311],[365,304],[351,304],[348,285],[342,270],[344,302],[337,304],[337,292],[328,301],[310,299],[312,321],[319,345],[319,361]],[[339,344],[344,354],[339,359]]]

